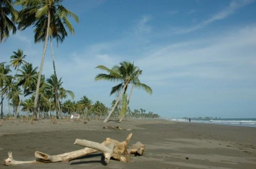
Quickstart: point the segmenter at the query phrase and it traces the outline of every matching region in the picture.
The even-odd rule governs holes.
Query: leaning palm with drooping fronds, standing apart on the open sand
[[[124,103],[124,105],[127,106],[126,91],[128,88],[128,84],[130,84],[130,83],[134,84],[135,88],[141,88],[149,94],[152,93],[152,89],[149,86],[147,86],[146,84],[141,83],[140,80],[138,79],[138,75],[140,74],[141,70],[138,69],[137,66],[134,66],[131,62],[123,61],[120,63],[120,66],[115,65],[115,66],[113,66],[112,69],[109,69],[103,65],[97,66],[96,68],[108,72],[108,74],[105,74],[105,73],[98,74],[95,77],[96,81],[108,80],[108,81],[120,81],[121,82],[118,85],[114,86],[110,92],[110,95],[112,95],[113,93],[120,91],[118,99],[115,102],[115,105],[113,106],[112,110],[110,111],[110,113],[108,114],[108,116],[105,118],[105,120],[103,122],[108,121],[108,119],[110,118],[110,115],[113,113],[113,110],[115,109],[116,105],[118,104],[121,96],[123,96],[123,93],[125,94],[123,96],[123,99],[125,99],[125,101],[123,101],[123,103]],[[124,108],[123,110],[126,111],[125,107],[123,107]],[[120,117],[120,121],[122,121],[122,119],[123,119],[123,117]]]

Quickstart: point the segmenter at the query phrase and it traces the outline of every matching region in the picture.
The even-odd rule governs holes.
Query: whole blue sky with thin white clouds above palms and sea
[[[135,90],[131,109],[162,117],[256,118],[255,0],[65,0],[80,23],[75,35],[54,44],[63,86],[105,105],[115,83],[94,81],[95,66],[134,61],[150,96]],[[23,49],[40,65],[43,44],[33,29],[18,31],[0,44],[0,62]],[[53,73],[50,45],[43,68]],[[5,104],[5,110],[7,106]]]

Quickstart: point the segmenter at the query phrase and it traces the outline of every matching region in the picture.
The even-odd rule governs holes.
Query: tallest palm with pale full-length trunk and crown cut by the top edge
[[[36,115],[37,107],[38,107],[38,93],[40,86],[40,78],[43,70],[43,63],[45,60],[45,52],[48,43],[49,31],[50,31],[50,23],[51,19],[55,17],[57,13],[60,13],[61,20],[63,23],[70,27],[71,23],[69,22],[67,16],[74,16],[72,12],[67,10],[65,7],[60,5],[59,3],[63,0],[16,0],[16,5],[22,5],[23,9],[19,12],[20,22],[18,24],[19,29],[25,29],[30,25],[35,27],[35,37],[37,36],[37,32],[45,35],[44,47],[43,47],[43,55],[40,64],[40,71],[38,73],[38,82],[36,86],[35,92],[35,103],[34,103],[34,116]],[[75,17],[78,21],[78,17]],[[47,20],[47,22],[46,22]],[[46,24],[47,23],[47,24]],[[42,33],[42,25],[47,25],[45,32]],[[38,30],[38,31],[37,31]],[[56,80],[57,81],[57,80]]]

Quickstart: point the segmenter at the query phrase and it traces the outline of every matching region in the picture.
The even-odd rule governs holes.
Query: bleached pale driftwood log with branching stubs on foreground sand
[[[88,140],[75,140],[75,145],[85,147],[84,149],[67,152],[58,155],[49,155],[43,152],[35,152],[36,159],[34,161],[16,161],[13,159],[12,152],[8,152],[8,159],[3,161],[4,165],[17,165],[17,164],[38,164],[38,163],[54,163],[54,162],[68,162],[73,159],[83,157],[95,152],[102,152],[105,157],[105,162],[108,163],[110,158],[116,159],[120,162],[130,162],[130,154],[143,155],[144,145],[137,142],[128,149],[128,143],[132,137],[132,133],[123,142],[106,138],[102,143],[92,142]]]

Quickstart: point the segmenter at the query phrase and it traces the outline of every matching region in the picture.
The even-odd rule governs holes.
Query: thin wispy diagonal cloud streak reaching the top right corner
[[[239,8],[249,5],[253,2],[254,2],[254,0],[232,0],[228,7],[221,10],[220,12],[216,13],[215,15],[211,16],[207,20],[205,20],[199,24],[196,24],[190,28],[179,29],[178,31],[176,31],[176,34],[186,34],[189,32],[193,32],[197,29],[207,26],[208,24],[211,24],[212,22],[215,22],[217,20],[223,20],[226,17],[228,17],[229,15],[236,12],[236,10],[238,10]]]

